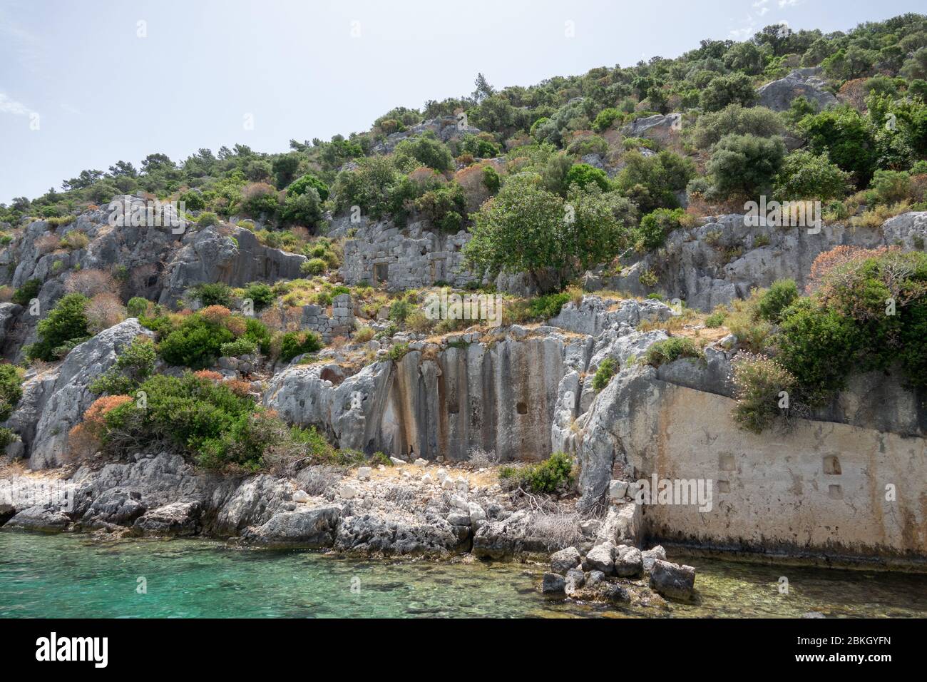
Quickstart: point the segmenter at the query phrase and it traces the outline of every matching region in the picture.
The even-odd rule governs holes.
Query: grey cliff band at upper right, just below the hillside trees
[[[735,298],[746,298],[754,287],[768,287],[784,277],[794,279],[804,289],[815,258],[837,246],[871,249],[899,245],[917,250],[917,244],[924,240],[927,212],[902,213],[875,230],[822,225],[819,234],[808,234],[806,227],[747,227],[743,215],[722,215],[705,225],[671,232],[662,249],[626,263],[616,277],[590,273],[585,287],[641,296],[660,291],[691,308],[711,310]],[[641,284],[641,274],[647,271],[658,279],[654,287]]]

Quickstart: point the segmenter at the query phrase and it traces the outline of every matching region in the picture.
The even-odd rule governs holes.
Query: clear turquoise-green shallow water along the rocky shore
[[[925,575],[689,562],[698,570],[697,603],[618,611],[543,598],[536,590],[543,567],[533,564],[350,560],[208,540],[7,531],[0,532],[0,617],[927,615]],[[781,575],[789,595],[779,593]],[[147,594],[136,591],[139,577]]]

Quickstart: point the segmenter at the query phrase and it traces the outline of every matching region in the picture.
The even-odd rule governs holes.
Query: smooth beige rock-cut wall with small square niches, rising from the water
[[[923,438],[798,420],[742,431],[733,401],[667,384],[652,438],[629,448],[642,478],[714,482],[710,511],[649,505],[645,533],[702,546],[927,560]]]

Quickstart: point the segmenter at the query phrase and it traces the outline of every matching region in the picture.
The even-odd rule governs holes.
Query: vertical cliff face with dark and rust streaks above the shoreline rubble
[[[526,330],[527,332],[527,330]],[[476,448],[502,459],[551,454],[560,381],[585,367],[587,339],[551,333],[414,350],[365,367],[337,386],[328,367],[290,367],[264,403],[324,428],[342,447],[402,457],[463,460]]]

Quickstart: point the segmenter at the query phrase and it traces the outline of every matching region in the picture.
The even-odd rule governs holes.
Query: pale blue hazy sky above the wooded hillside
[[[847,31],[919,9],[912,0],[0,0],[0,201],[34,199],[119,160],[137,167],[153,152],[174,161],[235,143],[279,152],[294,137],[362,132],[395,106],[472,92],[477,71],[496,87],[530,85],[677,57],[703,38],[743,40],[783,20]]]

